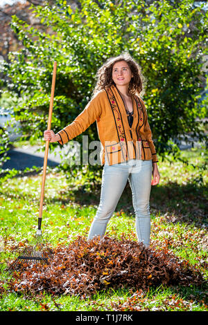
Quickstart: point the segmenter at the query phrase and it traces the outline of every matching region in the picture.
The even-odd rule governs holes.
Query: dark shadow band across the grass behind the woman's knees
[[[62,204],[69,201],[80,205],[98,205],[100,201],[101,189],[92,189],[90,192],[85,188],[70,190],[64,193]],[[58,199],[55,199],[55,201]],[[52,199],[52,202],[54,200]],[[195,223],[198,227],[207,225],[206,210],[208,210],[206,187],[196,187],[194,184],[178,185],[168,183],[168,185],[152,186],[150,194],[150,213],[153,216],[165,216],[167,221]],[[115,212],[123,210],[130,216],[135,215],[132,206],[132,192],[129,183],[125,186],[123,194],[119,199]]]

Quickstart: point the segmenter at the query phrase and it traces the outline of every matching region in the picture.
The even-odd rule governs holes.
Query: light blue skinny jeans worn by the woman
[[[88,240],[94,236],[104,236],[107,223],[121,198],[123,189],[129,180],[132,190],[132,203],[135,210],[135,228],[138,241],[148,246],[150,243],[150,189],[152,178],[152,160],[131,159],[126,163],[105,165],[103,167],[101,199],[88,234]]]

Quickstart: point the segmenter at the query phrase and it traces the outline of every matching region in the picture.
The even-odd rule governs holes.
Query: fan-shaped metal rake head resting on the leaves
[[[24,248],[21,254],[19,254],[19,257],[12,262],[8,270],[19,269],[33,263],[49,264],[49,259],[52,254],[53,250],[44,243],[41,230],[37,230],[34,245]]]

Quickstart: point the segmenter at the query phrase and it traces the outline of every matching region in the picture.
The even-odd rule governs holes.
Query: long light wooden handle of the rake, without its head
[[[47,130],[51,130],[51,119],[52,119],[52,112],[53,112],[53,97],[55,91],[55,76],[56,76],[56,67],[57,62],[54,61],[53,63],[53,78],[52,78],[52,86],[51,86],[51,100],[49,106],[49,120],[48,120],[48,127]],[[44,167],[43,167],[43,175],[42,175],[42,186],[41,186],[41,194],[40,194],[40,209],[39,209],[39,217],[38,217],[38,230],[41,228],[41,221],[42,221],[42,208],[44,203],[44,187],[46,181],[46,167],[47,167],[47,160],[49,154],[49,140],[46,141],[46,148],[45,148],[45,155],[44,155]]]

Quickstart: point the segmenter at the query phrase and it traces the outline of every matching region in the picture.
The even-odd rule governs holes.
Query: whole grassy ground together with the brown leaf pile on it
[[[187,151],[203,165],[203,151]],[[80,192],[56,169],[46,176],[42,231],[53,246],[49,266],[8,272],[37,229],[41,175],[0,188],[0,310],[208,310],[207,173],[160,163],[150,198],[150,248],[137,243],[130,188],[106,236],[87,241],[99,193]]]

